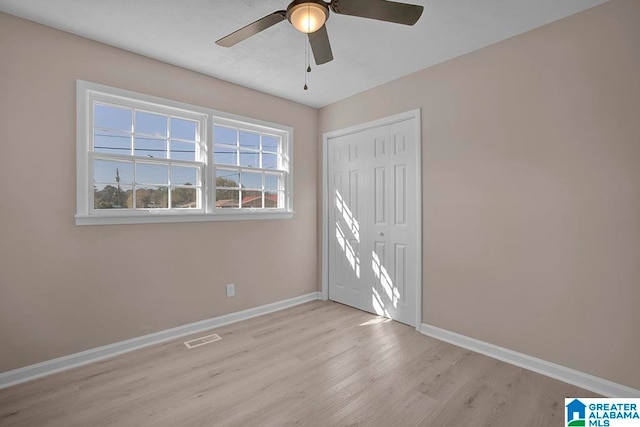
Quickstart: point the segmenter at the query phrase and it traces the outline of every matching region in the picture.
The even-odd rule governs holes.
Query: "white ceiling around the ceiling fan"
[[[334,60],[304,91],[305,40],[287,21],[234,47],[214,42],[288,0],[0,0],[0,11],[312,107],[608,0],[407,0],[425,11],[413,27],[332,14]]]

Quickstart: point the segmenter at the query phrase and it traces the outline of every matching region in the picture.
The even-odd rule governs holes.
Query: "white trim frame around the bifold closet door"
[[[416,309],[415,328],[420,330],[422,324],[422,123],[421,109],[406,111],[382,119],[361,123],[345,129],[322,134],[322,299],[329,299],[329,140],[341,136],[358,133],[367,129],[392,125],[406,120],[413,121],[416,137]]]

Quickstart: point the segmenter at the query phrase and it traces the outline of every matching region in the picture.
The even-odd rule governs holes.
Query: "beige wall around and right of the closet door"
[[[320,110],[422,109],[425,323],[640,388],[639,23],[613,0]]]

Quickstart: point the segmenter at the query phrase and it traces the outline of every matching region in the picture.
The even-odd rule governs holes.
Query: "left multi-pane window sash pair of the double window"
[[[201,210],[205,118],[128,104],[93,102],[93,210]]]

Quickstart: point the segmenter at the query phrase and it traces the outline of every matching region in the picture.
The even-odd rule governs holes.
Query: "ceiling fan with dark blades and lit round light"
[[[307,33],[316,64],[333,60],[327,27],[329,10],[340,15],[359,16],[396,24],[413,25],[418,22],[424,7],[387,0],[294,0],[287,10],[273,12],[251,24],[216,41],[216,44],[231,47],[260,31],[288,19],[299,31]]]

